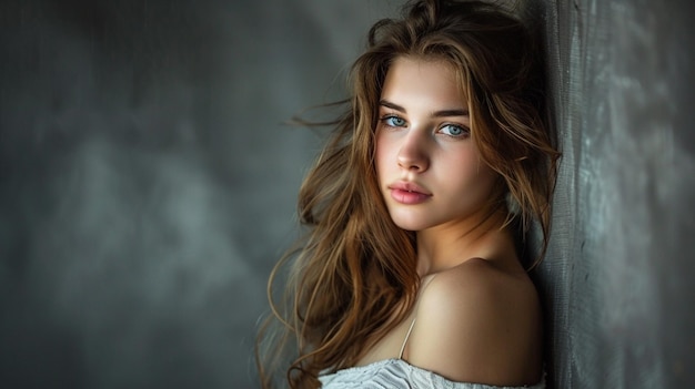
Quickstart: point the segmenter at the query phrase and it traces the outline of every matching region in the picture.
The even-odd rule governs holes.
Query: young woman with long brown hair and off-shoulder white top
[[[371,29],[301,188],[308,233],[281,262],[284,337],[263,386],[290,350],[292,388],[544,387],[527,270],[558,153],[537,66],[524,25],[484,2],[414,1]]]

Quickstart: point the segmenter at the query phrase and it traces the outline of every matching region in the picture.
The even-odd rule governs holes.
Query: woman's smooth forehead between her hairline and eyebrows
[[[446,105],[467,105],[464,89],[453,64],[444,60],[412,57],[399,57],[391,63],[381,96],[387,100],[412,98],[434,100]]]

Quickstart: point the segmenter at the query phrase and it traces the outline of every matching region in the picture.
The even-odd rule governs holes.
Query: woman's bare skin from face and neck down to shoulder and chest
[[[397,358],[416,318],[407,362],[455,381],[532,385],[542,371],[538,298],[503,227],[504,212],[488,202],[497,176],[481,162],[467,111],[446,63],[410,57],[392,63],[376,172],[394,223],[416,232],[423,288],[412,315],[359,365]]]

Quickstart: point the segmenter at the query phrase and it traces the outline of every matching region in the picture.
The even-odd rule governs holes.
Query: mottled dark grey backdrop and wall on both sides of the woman
[[[265,278],[399,1],[0,4],[0,387],[252,388]],[[564,152],[537,273],[555,388],[695,387],[695,13],[530,1]]]

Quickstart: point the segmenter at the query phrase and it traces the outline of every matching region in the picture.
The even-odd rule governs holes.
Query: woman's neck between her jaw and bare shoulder
[[[417,232],[420,276],[455,267],[471,258],[493,259],[500,252],[514,249],[506,227],[505,209],[483,209],[466,219]]]

